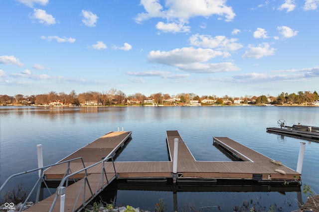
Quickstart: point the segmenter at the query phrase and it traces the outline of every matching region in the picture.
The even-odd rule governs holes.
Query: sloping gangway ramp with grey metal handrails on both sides
[[[73,162],[75,160],[81,160],[81,162],[83,164],[83,168],[72,173],[71,168],[70,168],[71,167],[70,164],[71,164],[71,162]],[[108,161],[110,161],[110,162],[108,162]],[[110,170],[108,170],[109,172],[106,171],[106,169],[105,169],[106,162],[113,163],[114,173],[112,171],[112,173],[110,174]],[[55,194],[52,194],[50,192],[49,187],[47,186],[46,181],[45,181],[44,171],[50,167],[58,166],[58,165],[65,164],[65,163],[67,163],[67,169],[64,173],[62,180],[60,181],[59,186],[56,189]],[[95,173],[95,174],[91,174],[93,177],[90,177],[90,174],[88,174],[88,169],[93,168],[93,167],[98,168],[100,170],[100,172]],[[22,210],[23,211],[32,211],[32,212],[34,212],[34,211],[42,212],[43,210],[48,211],[48,212],[53,212],[53,211],[64,212],[65,205],[68,205],[68,206],[73,205],[72,212],[75,212],[75,211],[80,212],[96,196],[98,196],[100,194],[100,192],[103,191],[103,189],[108,184],[110,184],[114,179],[116,179],[118,177],[118,174],[116,172],[115,165],[114,165],[114,159],[112,156],[104,158],[103,160],[101,160],[97,163],[94,163],[90,166],[87,166],[87,167],[85,167],[85,164],[84,164],[82,157],[77,157],[77,158],[66,160],[63,162],[58,162],[58,163],[55,163],[52,165],[47,165],[47,166],[43,166],[40,168],[35,168],[35,169],[28,170],[28,171],[23,171],[20,173],[13,174],[13,175],[9,176],[5,180],[5,182],[1,185],[0,192],[3,190],[3,188],[5,188],[5,186],[8,184],[8,182],[12,178],[17,177],[17,176],[21,176],[24,174],[28,174],[31,172],[36,172],[36,171],[39,172],[39,174],[38,174],[39,178],[37,179],[36,183],[32,187],[31,191],[29,192],[29,194],[26,197],[23,204],[20,206],[19,212],[21,212]],[[83,173],[83,172],[84,172],[84,178],[77,181],[74,178],[74,175],[79,174],[79,173]],[[92,180],[92,179],[94,179],[94,180]],[[70,180],[72,181],[72,184],[70,184]],[[91,181],[91,183],[90,183],[90,181]],[[94,183],[92,183],[93,181],[94,181]],[[48,190],[50,196],[39,202],[42,183],[44,184],[44,187]],[[69,193],[71,195],[73,195],[73,197],[66,200],[66,192],[68,191],[68,188],[70,188],[70,185],[73,186],[75,184],[79,185],[79,186],[75,186],[75,187],[79,187],[78,193],[75,193],[72,190],[72,192],[69,192]],[[94,184],[94,186],[93,186],[93,184]],[[95,188],[95,190],[94,190],[94,188]],[[36,190],[35,204],[32,207],[25,209],[24,206],[26,205],[27,202],[30,202],[32,195],[35,194],[35,190]],[[76,198],[74,198],[74,195],[76,195]],[[81,197],[81,195],[83,195],[83,198]],[[54,199],[52,201],[53,197],[54,197]],[[48,209],[48,207],[47,207],[48,201],[52,202],[50,209]],[[69,202],[67,202],[67,201],[69,201]],[[58,206],[55,207],[57,202],[60,202],[59,208],[58,208]],[[74,202],[74,203],[72,203],[72,202]],[[41,205],[43,205],[43,206],[41,206]],[[70,211],[70,208],[66,209],[66,211]]]

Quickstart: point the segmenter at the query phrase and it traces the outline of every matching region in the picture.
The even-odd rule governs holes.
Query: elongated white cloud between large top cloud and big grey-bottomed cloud
[[[219,35],[211,37],[210,35],[192,35],[189,38],[190,45],[204,47],[204,48],[216,48],[223,51],[236,51],[243,47],[242,44],[236,43],[238,39],[228,39],[226,36]]]

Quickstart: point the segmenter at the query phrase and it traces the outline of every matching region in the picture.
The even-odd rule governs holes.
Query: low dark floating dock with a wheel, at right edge
[[[284,126],[282,128],[267,128],[267,133],[275,133],[294,138],[319,142],[319,128],[307,125]]]

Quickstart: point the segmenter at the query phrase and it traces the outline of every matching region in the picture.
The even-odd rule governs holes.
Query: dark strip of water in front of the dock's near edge
[[[276,199],[270,199],[270,196],[276,196]],[[277,205],[282,208],[281,211],[294,211],[299,208],[298,202],[303,202],[300,185],[287,187],[253,182],[243,184],[242,181],[174,186],[171,182],[130,183],[120,180],[112,183],[100,198],[116,207],[130,205],[149,211],[154,211],[155,205],[163,199],[168,212],[234,211],[236,207],[243,207],[246,202],[246,210],[255,206],[260,209],[257,211],[268,211],[271,205]]]

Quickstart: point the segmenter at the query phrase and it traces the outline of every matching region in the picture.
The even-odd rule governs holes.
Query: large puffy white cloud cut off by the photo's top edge
[[[235,17],[232,7],[226,5],[226,0],[166,0],[165,8],[160,0],[141,0],[145,12],[135,17],[137,23],[150,18],[163,18],[167,23],[159,22],[157,28],[164,32],[188,32],[190,27],[184,26],[191,17],[219,15],[225,21]]]

